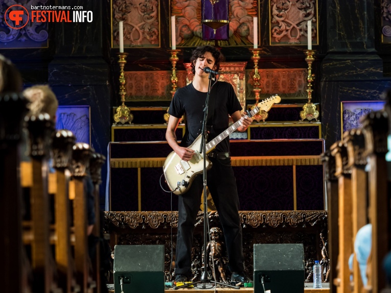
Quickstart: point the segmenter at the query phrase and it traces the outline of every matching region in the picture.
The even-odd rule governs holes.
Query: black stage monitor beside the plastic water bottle
[[[270,293],[303,293],[303,244],[255,244],[254,293],[264,293],[262,279]]]

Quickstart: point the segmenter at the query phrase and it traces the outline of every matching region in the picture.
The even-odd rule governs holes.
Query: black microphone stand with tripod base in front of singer
[[[209,85],[208,85],[208,93],[206,94],[205,100],[205,108],[203,109],[203,120],[202,120],[202,141],[200,145],[199,153],[203,154],[203,173],[202,173],[202,182],[203,182],[203,263],[204,270],[201,275],[201,279],[196,282],[190,282],[180,286],[174,286],[173,289],[177,290],[179,288],[186,288],[191,285],[195,285],[198,283],[202,283],[202,286],[197,286],[200,289],[206,289],[206,284],[212,283],[213,285],[221,285],[229,288],[240,289],[239,286],[234,286],[230,284],[225,284],[221,282],[217,282],[216,280],[211,282],[211,277],[208,273],[208,254],[206,251],[206,235],[208,232],[208,196],[206,195],[206,139],[208,139],[208,130],[206,129],[206,119],[208,118],[208,108],[209,108],[209,95],[211,93],[211,83],[212,83],[212,74],[209,74]],[[215,274],[216,276],[216,274]]]

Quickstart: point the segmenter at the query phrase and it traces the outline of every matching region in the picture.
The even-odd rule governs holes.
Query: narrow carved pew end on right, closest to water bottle
[[[335,176],[335,157],[327,151],[323,156],[325,165],[325,180],[327,185],[327,217],[328,217],[328,239],[330,259],[330,293],[335,293],[337,287],[334,278],[337,278],[336,265],[338,262],[338,178]]]

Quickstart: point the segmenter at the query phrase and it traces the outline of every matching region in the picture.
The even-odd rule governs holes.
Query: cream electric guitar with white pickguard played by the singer
[[[249,117],[254,116],[260,110],[269,111],[273,104],[281,102],[281,97],[273,95],[266,100],[258,103],[258,106],[251,111],[247,111]],[[236,121],[233,125],[228,127],[220,135],[216,136],[213,140],[208,142],[205,146],[206,154],[211,152],[218,143],[220,143],[229,134],[233,133],[241,125],[240,120]],[[203,172],[203,154],[199,152],[202,143],[202,134],[200,134],[194,142],[188,147],[194,150],[193,157],[188,161],[183,161],[175,152],[171,152],[164,162],[163,172],[166,182],[172,192],[177,194],[185,193],[192,184],[196,175]],[[212,167],[212,162],[206,158],[206,169]]]

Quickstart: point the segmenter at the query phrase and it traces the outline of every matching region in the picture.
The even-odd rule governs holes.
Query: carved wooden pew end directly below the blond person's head
[[[55,279],[56,265],[50,243],[50,206],[48,193],[49,149],[52,143],[54,122],[48,114],[26,119],[30,133],[31,169],[22,168],[25,178],[30,178],[31,211],[31,263],[33,291],[62,292]],[[26,183],[26,182],[25,182]]]

